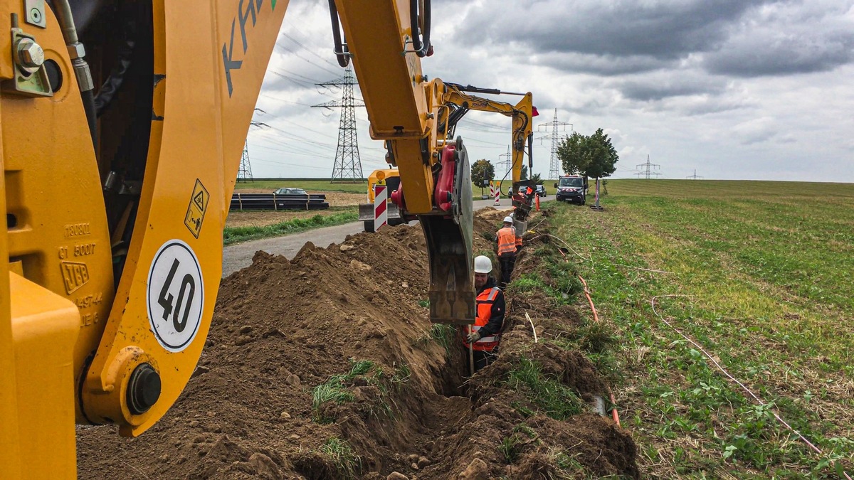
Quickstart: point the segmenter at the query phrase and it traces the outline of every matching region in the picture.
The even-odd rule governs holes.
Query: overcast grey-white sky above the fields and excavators
[[[664,179],[854,182],[854,0],[433,0],[432,21],[424,73],[531,91],[535,130],[555,108],[571,124],[561,135],[603,128],[614,178],[649,155]],[[339,99],[313,84],[343,73],[327,3],[291,0],[255,114],[272,128],[249,132],[255,177],[330,177],[340,110],[310,106]],[[384,150],[365,109],[356,117],[367,175]],[[495,164],[510,129],[471,112],[457,134],[472,161]],[[550,149],[535,141],[535,173]]]

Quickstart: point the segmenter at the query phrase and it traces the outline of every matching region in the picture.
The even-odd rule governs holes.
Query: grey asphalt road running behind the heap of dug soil
[[[547,202],[554,200],[554,196],[546,196],[540,200],[541,202]],[[476,210],[491,207],[494,207],[494,201],[492,200],[477,200],[474,202]],[[501,199],[499,208],[502,207],[511,207],[509,198]],[[412,222],[409,225],[417,225],[417,223]],[[251,242],[229,245],[222,252],[222,276],[226,277],[241,268],[252,265],[252,257],[258,250],[264,250],[272,255],[284,255],[290,260],[294,258],[294,255],[300,251],[306,242],[311,242],[318,247],[325,248],[332,243],[342,243],[348,235],[355,235],[356,233],[365,231],[363,227],[362,222],[353,222],[303,231],[293,235],[285,235],[284,237],[262,238]]]

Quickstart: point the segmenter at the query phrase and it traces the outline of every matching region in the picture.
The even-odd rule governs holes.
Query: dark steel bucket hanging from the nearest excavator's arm
[[[453,152],[450,211],[419,216],[430,260],[430,321],[471,325],[475,321],[475,285],[471,260],[472,203],[468,155],[458,138]],[[451,167],[445,160],[443,167]],[[445,173],[445,172],[443,172]],[[438,190],[437,190],[438,191]]]

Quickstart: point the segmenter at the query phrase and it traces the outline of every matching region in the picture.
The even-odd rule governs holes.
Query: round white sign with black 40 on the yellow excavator
[[[147,304],[151,331],[170,352],[190,346],[202,324],[205,300],[202,268],[190,245],[169,240],[149,269]]]

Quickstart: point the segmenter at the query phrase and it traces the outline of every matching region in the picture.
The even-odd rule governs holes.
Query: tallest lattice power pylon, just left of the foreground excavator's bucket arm
[[[341,121],[338,124],[338,147],[335,152],[335,166],[332,167],[332,182],[365,181],[362,174],[362,162],[359,158],[359,139],[356,136],[356,107],[364,107],[365,103],[355,99],[353,85],[358,81],[350,67],[344,71],[344,76],[322,84],[323,87],[341,87],[341,100],[312,105],[313,108],[341,108]]]

